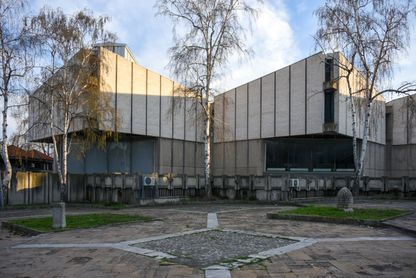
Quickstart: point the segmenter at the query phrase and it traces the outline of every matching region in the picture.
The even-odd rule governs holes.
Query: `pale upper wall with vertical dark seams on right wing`
[[[215,142],[322,132],[322,54],[215,97]]]

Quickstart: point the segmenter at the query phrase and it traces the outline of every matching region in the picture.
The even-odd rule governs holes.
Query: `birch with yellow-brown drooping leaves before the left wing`
[[[45,65],[40,87],[30,96],[30,129],[51,138],[62,202],[74,140],[103,144],[112,135],[110,129],[98,131],[114,109],[100,91],[99,72],[106,65],[94,49],[96,43],[114,39],[104,28],[107,22],[107,17],[94,17],[87,10],[66,15],[47,8],[31,21],[33,32],[42,37]]]

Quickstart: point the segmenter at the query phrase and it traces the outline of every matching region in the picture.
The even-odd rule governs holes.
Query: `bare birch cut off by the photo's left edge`
[[[0,205],[4,205],[5,192],[12,178],[12,166],[8,154],[8,125],[10,109],[18,104],[11,99],[22,93],[21,84],[31,69],[27,52],[31,38],[24,22],[25,3],[20,0],[0,0],[0,96],[2,103],[1,157],[5,166],[0,185]]]

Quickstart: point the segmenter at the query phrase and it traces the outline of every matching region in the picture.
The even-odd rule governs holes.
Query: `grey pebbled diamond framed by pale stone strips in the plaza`
[[[139,243],[134,246],[178,256],[172,261],[179,264],[207,267],[224,260],[237,259],[292,243],[295,241],[212,230]]]

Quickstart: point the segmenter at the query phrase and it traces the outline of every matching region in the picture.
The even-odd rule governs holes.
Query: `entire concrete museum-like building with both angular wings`
[[[97,47],[108,65],[100,74],[101,91],[116,110],[119,121],[112,128],[120,140],[105,150],[72,153],[69,171],[202,175],[203,128],[195,100],[178,93],[178,83],[137,64],[126,45]],[[213,175],[351,175],[348,93],[333,65],[342,59],[318,53],[216,96]],[[358,73],[353,78],[360,82]],[[416,122],[404,102],[377,100],[364,175],[414,175]],[[32,140],[48,135],[34,131]]]

